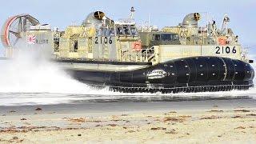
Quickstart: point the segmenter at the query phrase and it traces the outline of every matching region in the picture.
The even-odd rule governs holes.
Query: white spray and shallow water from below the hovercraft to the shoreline
[[[23,46],[24,47],[24,46]],[[207,99],[256,99],[256,88],[246,91],[123,94],[97,90],[66,74],[49,58],[46,47],[22,49],[13,61],[0,61],[0,106],[54,105],[79,102],[164,102]],[[255,65],[253,65],[256,68]],[[254,69],[256,70],[256,69]]]

